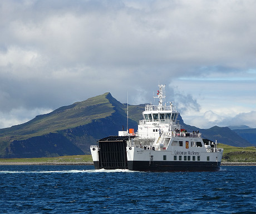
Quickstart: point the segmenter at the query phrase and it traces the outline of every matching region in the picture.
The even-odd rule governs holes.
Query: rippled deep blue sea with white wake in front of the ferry
[[[256,213],[255,172],[0,166],[0,213]]]

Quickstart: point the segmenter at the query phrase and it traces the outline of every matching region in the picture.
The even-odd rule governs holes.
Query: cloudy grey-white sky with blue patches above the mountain
[[[110,92],[256,128],[256,1],[0,1],[0,128]]]

